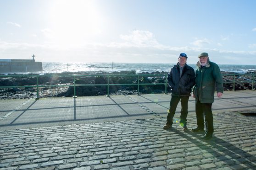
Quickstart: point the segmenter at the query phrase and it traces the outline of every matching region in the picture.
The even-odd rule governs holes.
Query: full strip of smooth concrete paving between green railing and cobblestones
[[[0,128],[36,128],[166,117],[170,94],[84,96],[0,100]],[[256,110],[256,91],[225,91],[215,98],[213,113]],[[180,116],[180,103],[176,115]],[[189,98],[189,115],[195,116],[195,99]],[[189,117],[188,117],[189,118]]]

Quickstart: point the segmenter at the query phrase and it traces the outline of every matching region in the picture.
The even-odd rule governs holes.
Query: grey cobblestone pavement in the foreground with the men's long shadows
[[[179,115],[175,115],[178,120]],[[255,170],[256,122],[214,114],[214,137],[164,130],[164,117],[0,131],[0,168],[30,170]],[[176,122],[176,121],[175,121]],[[195,126],[195,115],[188,116]]]

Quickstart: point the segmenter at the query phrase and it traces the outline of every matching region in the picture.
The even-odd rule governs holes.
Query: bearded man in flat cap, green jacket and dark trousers
[[[204,114],[206,133],[205,140],[212,138],[213,117],[211,105],[214,101],[214,92],[217,91],[217,97],[223,94],[223,79],[217,64],[210,62],[208,53],[200,53],[199,61],[195,70],[195,86],[193,88],[193,97],[195,97],[195,113],[197,127],[192,128],[192,132],[204,131]]]

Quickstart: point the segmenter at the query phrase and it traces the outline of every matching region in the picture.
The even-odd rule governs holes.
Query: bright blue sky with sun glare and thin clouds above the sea
[[[256,64],[256,0],[0,0],[0,58]]]

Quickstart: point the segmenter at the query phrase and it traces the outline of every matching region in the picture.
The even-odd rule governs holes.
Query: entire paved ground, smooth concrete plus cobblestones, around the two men
[[[256,91],[225,91],[214,137],[163,130],[170,94],[0,100],[3,169],[256,169]],[[250,111],[250,112],[248,112]],[[177,121],[177,122],[176,122]],[[195,127],[189,99],[188,128]]]

